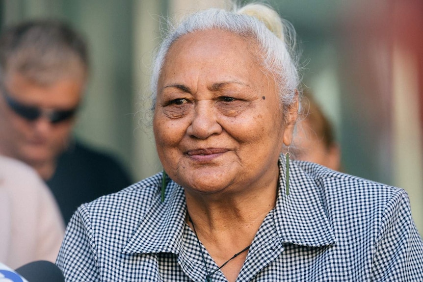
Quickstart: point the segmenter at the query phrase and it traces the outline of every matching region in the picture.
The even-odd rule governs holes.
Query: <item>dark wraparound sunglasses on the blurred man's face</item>
[[[7,94],[5,87],[1,87],[1,93],[6,100],[7,105],[20,117],[28,120],[35,121],[40,117],[46,117],[52,124],[68,121],[75,116],[78,106],[70,110],[50,110],[41,109],[34,106],[27,106],[14,100]]]

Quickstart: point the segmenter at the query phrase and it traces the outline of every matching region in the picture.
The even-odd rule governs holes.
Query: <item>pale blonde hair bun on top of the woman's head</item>
[[[279,39],[284,40],[284,26],[279,14],[272,8],[259,3],[248,4],[238,9],[238,14],[254,17],[264,23]]]

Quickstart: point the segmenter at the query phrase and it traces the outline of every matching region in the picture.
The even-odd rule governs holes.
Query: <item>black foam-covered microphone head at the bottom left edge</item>
[[[65,282],[62,271],[47,260],[27,263],[15,271],[28,282]]]

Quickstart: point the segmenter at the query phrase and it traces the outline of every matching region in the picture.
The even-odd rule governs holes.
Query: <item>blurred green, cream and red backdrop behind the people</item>
[[[91,78],[75,134],[158,172],[147,102],[161,16],[224,0],[1,0],[1,26],[59,18],[81,31]],[[332,121],[344,171],[404,188],[423,232],[423,1],[267,0],[294,25],[303,81]]]

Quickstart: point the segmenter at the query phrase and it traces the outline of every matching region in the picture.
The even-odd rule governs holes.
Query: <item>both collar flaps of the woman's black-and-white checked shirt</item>
[[[290,165],[290,194],[286,194],[286,172],[279,159],[279,187],[274,220],[283,243],[325,246],[335,243],[323,205],[322,191],[295,161]],[[156,197],[138,228],[122,250],[126,254],[173,253],[179,255],[184,234],[186,202],[184,189],[170,180],[170,191],[162,203]]]

